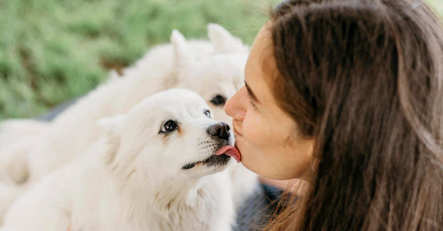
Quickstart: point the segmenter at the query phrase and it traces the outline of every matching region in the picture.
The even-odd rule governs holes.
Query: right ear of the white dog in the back
[[[223,26],[210,23],[208,25],[209,41],[221,53],[240,53],[248,52],[248,48],[239,38],[232,36]]]

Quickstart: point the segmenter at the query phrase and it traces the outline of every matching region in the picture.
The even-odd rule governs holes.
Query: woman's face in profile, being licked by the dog
[[[264,67],[265,65],[265,67]],[[269,23],[255,37],[245,67],[245,85],[226,103],[242,164],[277,180],[306,180],[314,140],[303,139],[296,123],[278,107],[266,81],[275,73]]]

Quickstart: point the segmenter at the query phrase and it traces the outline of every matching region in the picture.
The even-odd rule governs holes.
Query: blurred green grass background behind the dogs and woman
[[[33,117],[84,95],[109,70],[208,23],[251,45],[280,0],[0,0],[0,120]],[[442,15],[443,0],[428,0]]]

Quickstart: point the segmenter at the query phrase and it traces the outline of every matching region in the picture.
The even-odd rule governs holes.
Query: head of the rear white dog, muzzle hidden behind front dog
[[[214,52],[194,55],[186,46],[185,37],[177,30],[172,32],[177,87],[202,96],[213,109],[215,118],[228,122],[224,103],[243,85],[249,48],[220,25],[210,24],[208,36]]]

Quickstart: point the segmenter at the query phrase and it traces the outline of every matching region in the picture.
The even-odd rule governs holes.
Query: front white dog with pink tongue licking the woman
[[[188,90],[155,94],[106,130],[92,153],[18,199],[1,231],[228,231],[233,134]]]

